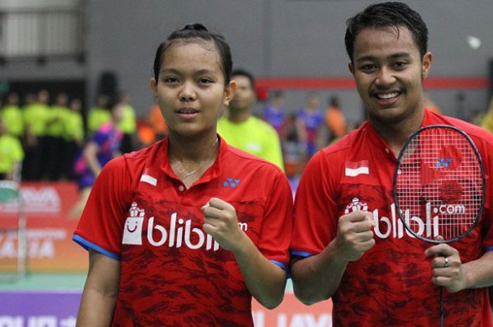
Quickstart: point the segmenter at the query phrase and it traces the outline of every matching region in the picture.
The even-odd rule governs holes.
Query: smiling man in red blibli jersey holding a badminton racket
[[[318,152],[301,178],[291,244],[295,294],[306,304],[332,297],[333,326],[439,326],[442,286],[445,326],[492,326],[492,134],[425,108],[428,30],[405,4],[369,6],[348,20],[345,41],[368,121]],[[451,244],[409,236],[392,196],[404,141],[430,124],[465,131],[488,177],[478,225]]]

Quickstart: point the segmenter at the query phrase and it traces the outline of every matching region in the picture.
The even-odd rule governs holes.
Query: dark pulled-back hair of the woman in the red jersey
[[[181,30],[176,30],[170,34],[166,41],[163,41],[163,43],[158,46],[156,57],[154,58],[154,78],[156,79],[156,82],[158,81],[161,63],[166,51],[176,44],[193,43],[196,41],[213,42],[220,56],[221,70],[223,70],[225,84],[227,85],[230,83],[233,65],[230,46],[226,43],[223,35],[209,32],[207,28],[200,23],[189,24]]]

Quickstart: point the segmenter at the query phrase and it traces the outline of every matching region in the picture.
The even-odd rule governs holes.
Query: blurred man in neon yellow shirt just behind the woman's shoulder
[[[251,115],[251,106],[256,101],[254,77],[244,70],[234,70],[231,76],[237,84],[236,94],[227,117],[218,120],[218,134],[230,146],[273,162],[284,170],[277,132],[267,122]]]

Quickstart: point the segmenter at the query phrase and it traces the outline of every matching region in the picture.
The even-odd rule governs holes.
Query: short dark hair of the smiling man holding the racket
[[[353,62],[354,40],[361,30],[371,27],[407,27],[423,58],[428,51],[428,28],[420,14],[401,2],[384,2],[368,6],[364,11],[347,20],[344,41],[346,51]]]

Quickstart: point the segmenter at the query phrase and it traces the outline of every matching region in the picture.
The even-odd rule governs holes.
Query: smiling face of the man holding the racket
[[[407,27],[361,30],[354,41],[354,75],[370,122],[397,123],[423,110],[423,79],[431,53],[420,57]]]

